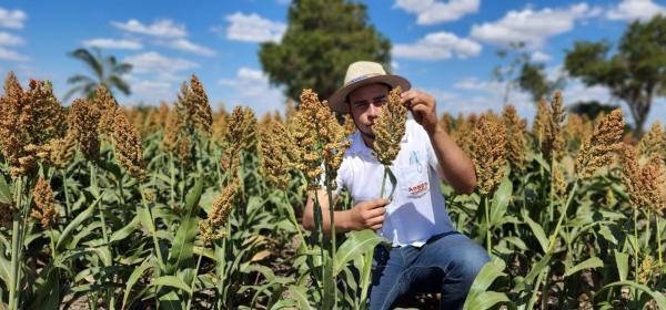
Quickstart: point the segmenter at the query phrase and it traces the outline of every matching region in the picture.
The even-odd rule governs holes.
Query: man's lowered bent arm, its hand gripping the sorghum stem
[[[324,234],[331,235],[331,220],[329,219],[329,198],[326,190],[316,192],[317,199],[322,206],[322,218]],[[333,202],[335,202],[333,197]],[[389,199],[373,199],[356,204],[350,210],[334,211],[334,225],[335,232],[346,232],[350,230],[363,230],[373,229],[377,230],[382,228],[384,223],[384,213],[386,211],[385,206],[389,205]],[[310,194],[307,203],[305,204],[305,210],[303,211],[303,227],[307,230],[314,230],[314,194]]]

